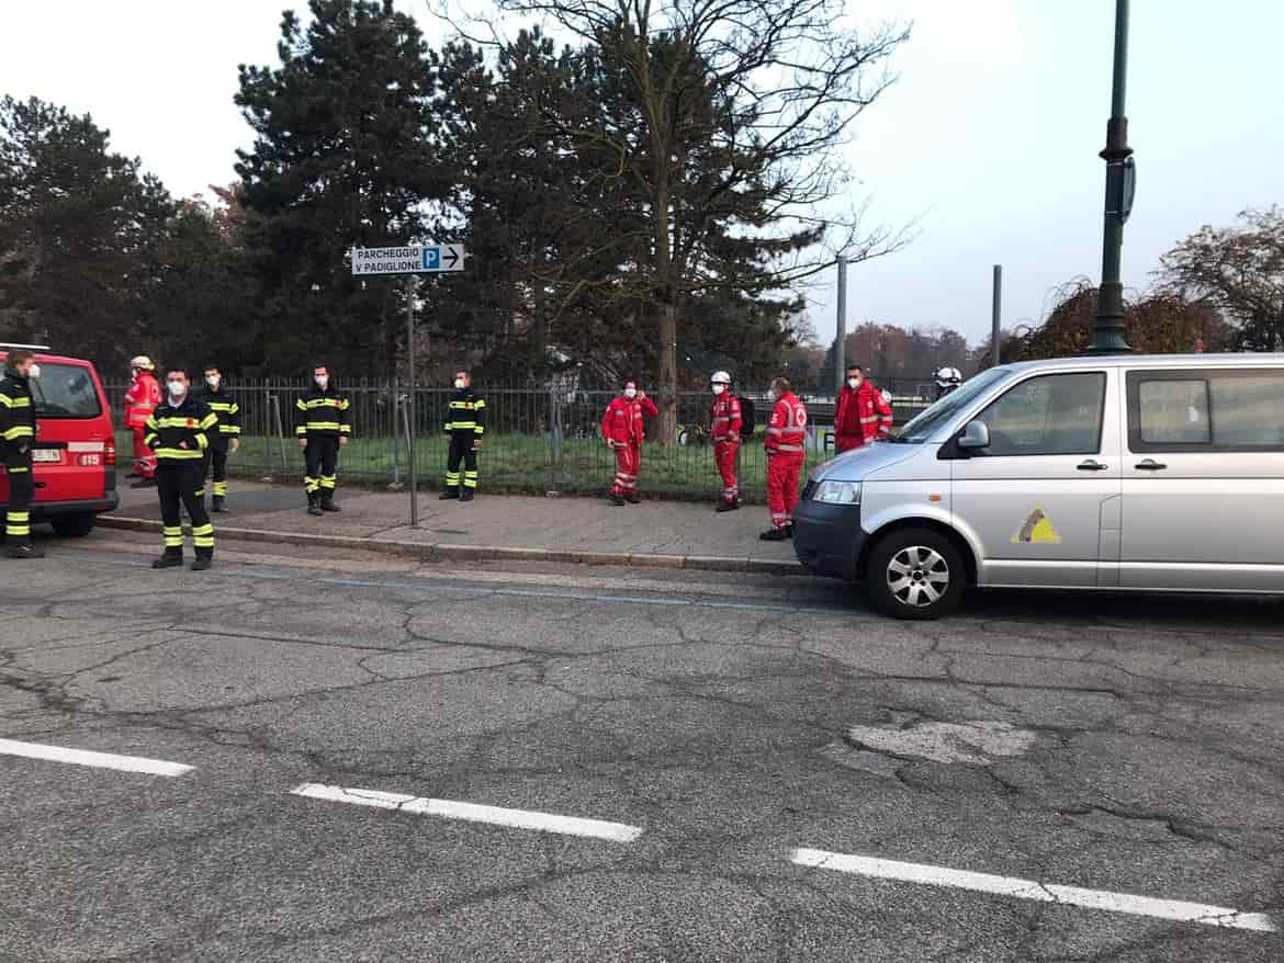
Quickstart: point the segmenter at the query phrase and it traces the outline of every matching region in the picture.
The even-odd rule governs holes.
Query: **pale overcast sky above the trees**
[[[430,37],[422,0],[398,5]],[[249,128],[232,104],[236,64],[276,62],[280,12],[298,0],[63,0],[58,15],[4,0],[0,92],[89,112],[114,149],[175,194],[234,178]],[[849,0],[849,15],[912,21],[898,83],[864,114],[850,162],[871,218],[921,217],[903,253],[853,267],[849,325],[990,325],[991,266],[1004,324],[1036,322],[1048,293],[1100,272],[1112,0]],[[1130,141],[1138,196],[1124,281],[1203,223],[1284,204],[1284,4],[1132,0]],[[813,291],[823,339],[832,281]]]

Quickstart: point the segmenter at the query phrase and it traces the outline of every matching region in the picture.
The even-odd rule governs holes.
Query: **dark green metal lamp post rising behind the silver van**
[[[1124,284],[1120,257],[1124,223],[1132,208],[1135,167],[1127,145],[1127,117],[1124,100],[1127,87],[1127,6],[1115,0],[1115,81],[1111,90],[1111,119],[1106,127],[1106,231],[1102,245],[1102,288],[1097,300],[1097,324],[1091,354],[1124,354],[1132,351],[1124,339]]]

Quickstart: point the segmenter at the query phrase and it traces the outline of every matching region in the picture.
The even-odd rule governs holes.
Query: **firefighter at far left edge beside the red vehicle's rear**
[[[0,462],[9,475],[9,510],[5,514],[5,555],[10,559],[40,559],[31,544],[31,447],[36,442],[36,404],[31,379],[40,366],[26,348],[14,348],[0,377]]]

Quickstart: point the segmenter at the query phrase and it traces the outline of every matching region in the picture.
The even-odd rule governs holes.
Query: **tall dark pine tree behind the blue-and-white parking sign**
[[[347,252],[426,240],[426,208],[451,189],[433,140],[435,80],[415,19],[392,0],[308,8],[306,30],[291,12],[281,19],[280,67],[241,65],[236,95],[256,134],[236,169],[263,349],[279,371],[321,357],[386,371],[403,286],[353,279]]]

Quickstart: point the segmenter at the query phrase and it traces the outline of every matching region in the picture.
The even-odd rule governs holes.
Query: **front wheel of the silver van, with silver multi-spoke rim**
[[[896,619],[939,619],[963,596],[967,574],[958,550],[926,528],[885,535],[869,553],[865,591],[876,607]]]

